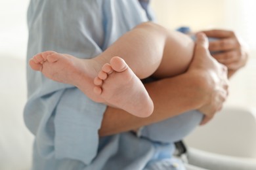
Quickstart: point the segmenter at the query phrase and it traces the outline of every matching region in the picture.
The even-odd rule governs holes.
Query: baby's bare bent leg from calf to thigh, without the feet
[[[177,31],[146,22],[125,33],[97,58],[119,56],[140,79],[152,74],[158,78],[179,75],[188,69],[194,41]]]

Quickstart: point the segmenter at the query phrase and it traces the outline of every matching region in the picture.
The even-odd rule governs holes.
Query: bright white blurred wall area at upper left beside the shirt
[[[0,1],[0,58],[25,58],[28,37],[27,8],[28,0]]]

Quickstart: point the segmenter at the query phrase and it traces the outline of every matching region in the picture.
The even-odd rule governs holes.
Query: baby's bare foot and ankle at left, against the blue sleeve
[[[101,67],[93,59],[79,59],[68,54],[47,51],[33,56],[30,67],[56,82],[77,86],[93,101],[104,102],[104,99],[93,92],[93,79]]]

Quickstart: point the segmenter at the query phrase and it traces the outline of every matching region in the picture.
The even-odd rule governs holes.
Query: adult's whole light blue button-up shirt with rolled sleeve
[[[138,0],[31,0],[28,58],[45,50],[94,58],[135,25],[153,18]],[[132,132],[99,137],[106,105],[27,67],[26,126],[35,135],[35,170],[184,169],[173,142],[202,120],[197,111]]]

